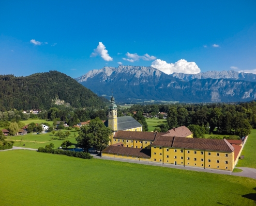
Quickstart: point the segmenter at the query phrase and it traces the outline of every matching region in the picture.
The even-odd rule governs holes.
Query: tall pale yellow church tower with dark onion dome
[[[111,142],[110,145],[113,144],[113,136],[115,135],[115,132],[117,131],[117,106],[115,104],[115,98],[112,97],[110,99],[110,105],[109,105],[109,118],[108,118],[108,127],[112,130],[111,135]]]

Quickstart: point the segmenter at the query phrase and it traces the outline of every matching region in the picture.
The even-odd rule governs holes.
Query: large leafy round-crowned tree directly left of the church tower
[[[76,141],[87,150],[94,147],[97,150],[102,150],[109,145],[110,134],[112,131],[109,127],[106,127],[100,118],[96,117],[91,120],[87,127],[81,127],[79,130],[79,136]]]

